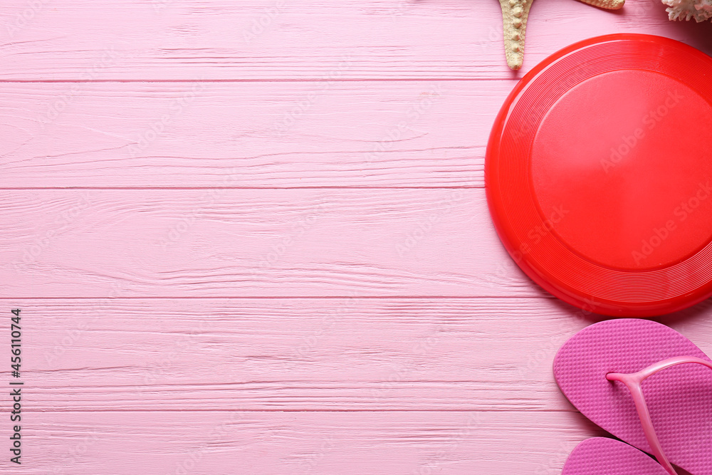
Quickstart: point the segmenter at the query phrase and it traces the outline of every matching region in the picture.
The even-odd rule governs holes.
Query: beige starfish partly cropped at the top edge
[[[504,52],[507,64],[512,69],[522,67],[524,59],[524,33],[527,28],[527,16],[534,0],[499,0],[504,20]],[[602,9],[617,10],[625,0],[581,0]]]

